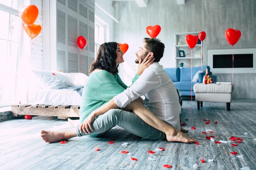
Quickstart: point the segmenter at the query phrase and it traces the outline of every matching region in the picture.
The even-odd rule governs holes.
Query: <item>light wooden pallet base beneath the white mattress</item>
[[[58,119],[79,117],[80,106],[11,105],[13,117],[19,115],[57,116]]]

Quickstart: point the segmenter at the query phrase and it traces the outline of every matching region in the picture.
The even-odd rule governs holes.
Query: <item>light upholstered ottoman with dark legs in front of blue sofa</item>
[[[193,86],[195,92],[195,101],[198,102],[198,110],[203,106],[203,102],[226,102],[227,111],[230,110],[232,102],[232,92],[234,90],[232,84],[203,84],[197,83]]]

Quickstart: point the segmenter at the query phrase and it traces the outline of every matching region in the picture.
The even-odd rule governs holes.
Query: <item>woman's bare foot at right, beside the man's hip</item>
[[[173,132],[170,134],[166,134],[166,139],[171,142],[174,142],[174,141],[183,142],[183,143],[196,142],[196,139],[189,137],[188,135],[184,134],[183,132],[177,129],[173,130]]]

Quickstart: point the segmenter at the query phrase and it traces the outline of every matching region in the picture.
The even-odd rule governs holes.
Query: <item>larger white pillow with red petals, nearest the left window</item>
[[[32,70],[44,90],[76,86],[67,75],[57,71]],[[36,80],[35,80],[36,81]]]

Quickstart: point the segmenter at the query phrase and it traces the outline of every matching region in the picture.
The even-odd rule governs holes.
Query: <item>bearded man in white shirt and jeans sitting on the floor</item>
[[[180,103],[177,91],[171,78],[158,63],[163,53],[164,44],[160,42],[160,40],[144,38],[144,43],[136,53],[136,62],[139,62],[139,58],[143,60],[146,56],[146,58],[148,58],[150,55],[152,57],[154,56],[154,64],[146,68],[130,88],[114,97],[114,99],[110,100],[107,104],[94,110],[76,130],[67,130],[65,132],[42,130],[41,137],[43,140],[51,143],[75,136],[88,135],[88,133],[98,134],[118,125],[146,139],[160,140],[165,138],[168,141],[195,143],[196,139],[192,139],[183,133],[187,132],[187,130],[182,128],[183,132],[180,131]],[[153,111],[158,118],[167,122],[167,124],[157,117],[157,119],[152,119],[150,114],[153,115],[153,113],[151,112],[147,113],[149,114],[148,117],[145,114],[143,115],[143,112],[142,116],[144,117],[138,115],[141,119],[145,121],[148,120],[146,122],[155,127],[153,128],[135,115],[137,114],[136,110],[139,109],[141,111],[141,107],[137,107],[140,103],[137,98],[141,95],[146,96],[146,106],[148,109]],[[124,107],[126,107],[126,110],[132,110],[135,114],[120,109],[111,109]],[[144,112],[147,110],[145,109]],[[101,116],[95,119],[95,117],[99,115]],[[105,129],[101,130],[103,127]]]

